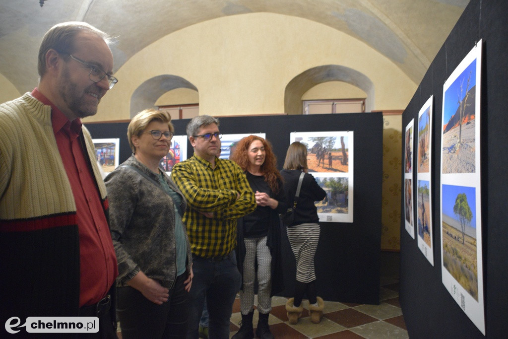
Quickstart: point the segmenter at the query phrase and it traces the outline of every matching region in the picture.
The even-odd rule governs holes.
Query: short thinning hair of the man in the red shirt
[[[76,37],[79,33],[84,31],[96,34],[102,38],[109,47],[113,43],[113,39],[106,33],[86,22],[69,21],[58,23],[51,27],[42,38],[37,65],[39,76],[42,77],[46,73],[46,53],[48,50],[54,49],[58,53],[63,54],[73,53],[76,48],[74,45]]]

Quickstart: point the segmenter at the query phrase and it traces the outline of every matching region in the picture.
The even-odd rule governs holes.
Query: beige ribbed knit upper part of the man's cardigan
[[[105,202],[106,187],[94,161],[91,136],[84,126],[82,132]],[[75,211],[51,126],[51,107],[29,93],[0,105],[0,223]]]

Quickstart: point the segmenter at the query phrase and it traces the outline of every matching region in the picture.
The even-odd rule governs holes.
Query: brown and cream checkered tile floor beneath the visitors
[[[399,304],[397,279],[382,279],[379,305],[354,304],[326,301],[325,316],[320,324],[310,322],[308,302],[303,301],[303,317],[298,324],[290,325],[285,311],[287,298],[273,297],[272,312],[268,318],[270,330],[275,338],[408,338],[404,318]],[[233,305],[230,337],[238,331],[241,319],[240,299]],[[253,324],[258,323],[258,312],[254,312]]]

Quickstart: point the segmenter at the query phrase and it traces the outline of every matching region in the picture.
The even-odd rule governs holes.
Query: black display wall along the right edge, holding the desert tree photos
[[[418,249],[417,241],[405,231],[404,220],[401,221],[399,298],[410,338],[484,337],[441,283],[439,225],[442,86],[479,39],[483,40],[480,151],[486,336],[505,338],[508,335],[506,13],[508,2],[505,0],[472,0],[432,61],[402,116],[404,130],[411,119],[418,121],[420,108],[434,95],[431,158],[434,267]],[[416,168],[416,157],[414,160],[413,168]],[[416,196],[414,199],[416,201]]]

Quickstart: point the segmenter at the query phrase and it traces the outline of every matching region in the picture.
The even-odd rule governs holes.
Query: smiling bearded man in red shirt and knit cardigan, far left
[[[0,105],[0,324],[6,329],[16,324],[12,317],[23,324],[30,316],[87,316],[100,320],[99,333],[90,335],[116,337],[110,289],[118,270],[108,200],[80,120],[97,113],[117,82],[109,42],[84,22],[53,26],[39,49],[37,88]]]

